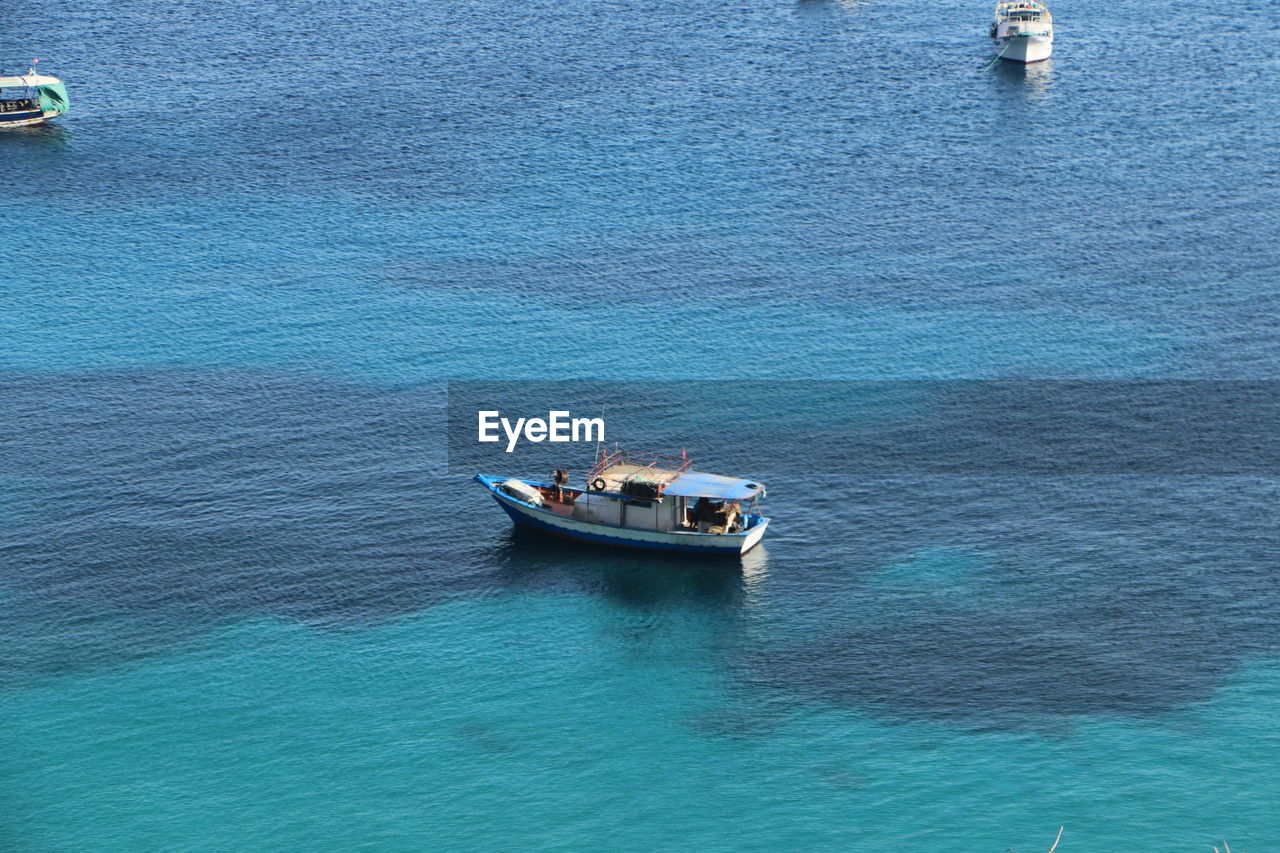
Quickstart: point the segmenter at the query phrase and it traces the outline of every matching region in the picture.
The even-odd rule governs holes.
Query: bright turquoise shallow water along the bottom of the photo
[[[1280,833],[1274,789],[1242,785],[1277,745],[1274,666],[1160,720],[893,724],[724,678],[767,583],[732,617],[509,594],[358,634],[246,621],[32,688],[6,703],[6,831],[52,849],[1001,850],[1047,849],[1059,824],[1078,849]]]

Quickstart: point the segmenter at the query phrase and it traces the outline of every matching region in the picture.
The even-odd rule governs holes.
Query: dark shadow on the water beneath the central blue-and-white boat
[[[595,592],[632,607],[664,603],[736,605],[765,574],[763,546],[713,557],[567,542],[513,526],[494,552],[498,581],[526,589]]]

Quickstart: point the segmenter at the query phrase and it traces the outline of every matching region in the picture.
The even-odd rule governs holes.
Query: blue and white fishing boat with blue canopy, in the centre
[[[557,470],[552,482],[476,474],[518,525],[581,542],[741,555],[769,520],[760,515],[764,484],[690,470],[691,461],[655,453],[598,452],[582,488]]]

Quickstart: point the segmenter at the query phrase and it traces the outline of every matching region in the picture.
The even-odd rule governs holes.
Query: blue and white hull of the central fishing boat
[[[582,521],[581,519],[563,516],[558,512],[517,501],[497,489],[502,478],[477,475],[476,480],[489,489],[493,500],[511,516],[513,523],[552,535],[594,544],[644,548],[649,551],[737,556],[746,553],[759,544],[760,538],[764,535],[764,529],[769,526],[769,520],[762,519],[759,524],[742,533],[695,533],[692,530],[620,528],[612,524]]]

